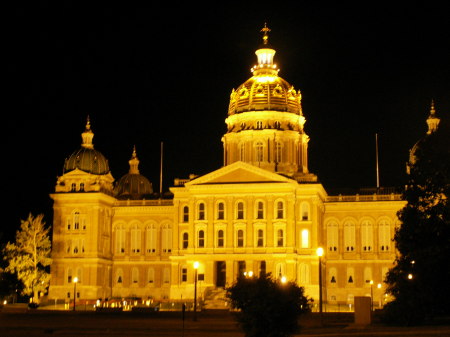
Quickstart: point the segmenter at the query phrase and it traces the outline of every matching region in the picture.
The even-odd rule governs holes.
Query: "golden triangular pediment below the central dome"
[[[292,179],[261,169],[259,167],[235,162],[216,171],[207,173],[186,183],[186,186],[206,184],[242,184],[293,182]]]

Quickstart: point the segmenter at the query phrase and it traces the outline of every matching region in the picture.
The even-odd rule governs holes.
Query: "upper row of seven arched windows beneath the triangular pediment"
[[[266,219],[266,203],[262,200],[258,200],[254,205],[253,218],[255,219]],[[273,214],[275,219],[285,219],[286,218],[286,206],[285,202],[278,200],[274,203]],[[300,206],[300,216],[302,221],[308,221],[310,219],[309,203],[303,202]],[[181,221],[189,222],[190,210],[189,206],[185,205],[182,208]],[[234,209],[234,219],[243,220],[247,218],[247,210],[245,203],[243,201],[238,201],[235,203]],[[195,210],[195,220],[206,220],[206,204],[204,202],[199,202]],[[226,207],[225,202],[219,201],[215,206],[215,220],[225,220],[226,219]]]

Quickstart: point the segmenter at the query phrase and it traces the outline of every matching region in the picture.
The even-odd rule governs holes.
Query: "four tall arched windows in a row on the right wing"
[[[339,225],[335,222],[327,224],[327,248],[330,252],[339,251]],[[374,241],[378,238],[378,251],[390,252],[392,248],[393,236],[391,235],[391,225],[387,221],[378,223],[378,232],[370,221],[363,221],[360,227],[360,251],[373,252],[375,250]],[[356,225],[352,222],[344,224],[343,230],[343,251],[356,251]]]

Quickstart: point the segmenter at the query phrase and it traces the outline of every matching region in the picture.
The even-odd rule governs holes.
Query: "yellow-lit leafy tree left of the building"
[[[5,271],[17,274],[23,284],[22,295],[32,296],[33,303],[37,303],[39,293],[45,291],[50,281],[47,270],[52,262],[50,228],[45,227],[43,217],[29,214],[27,220],[21,220],[16,242],[8,242],[4,248],[8,263]]]

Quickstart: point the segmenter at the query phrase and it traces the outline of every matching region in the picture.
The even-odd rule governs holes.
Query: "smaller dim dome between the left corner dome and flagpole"
[[[132,200],[150,198],[153,194],[152,183],[139,173],[136,149],[133,149],[129,163],[130,171],[119,179],[114,189],[116,198]]]

